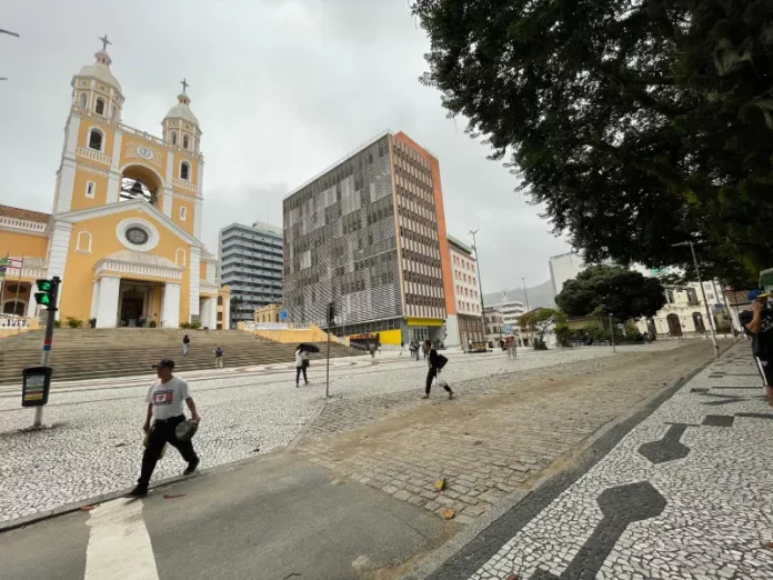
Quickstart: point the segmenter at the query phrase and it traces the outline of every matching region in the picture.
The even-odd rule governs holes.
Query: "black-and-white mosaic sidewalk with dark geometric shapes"
[[[742,342],[430,578],[771,579],[772,438],[773,409]]]

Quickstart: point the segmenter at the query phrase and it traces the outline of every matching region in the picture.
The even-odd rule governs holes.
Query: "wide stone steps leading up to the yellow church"
[[[191,348],[182,356],[182,338]],[[20,383],[24,367],[40,364],[43,331],[32,330],[0,339],[0,384]],[[160,359],[173,359],[179,372],[214,368],[214,347],[223,349],[224,367],[288,363],[297,344],[283,344],[239,330],[169,330],[152,328],[70,329],[53,331],[53,380],[86,380],[152,372]],[[324,358],[327,344],[311,359]],[[360,356],[362,351],[331,343],[330,357]]]

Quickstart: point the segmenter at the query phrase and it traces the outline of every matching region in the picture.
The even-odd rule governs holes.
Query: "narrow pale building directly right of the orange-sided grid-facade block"
[[[455,314],[445,320],[445,346],[466,348],[484,340],[478,262],[472,248],[449,236]]]

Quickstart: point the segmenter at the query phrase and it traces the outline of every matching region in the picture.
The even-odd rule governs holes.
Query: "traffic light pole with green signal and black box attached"
[[[23,370],[23,387],[21,406],[34,407],[34,419],[32,427],[40,427],[43,422],[43,406],[48,402],[48,394],[51,388],[51,376],[53,369],[49,367],[51,358],[51,346],[53,343],[53,323],[57,319],[57,300],[59,299],[59,284],[61,279],[58,276],[51,280],[36,280],[38,291],[34,293],[34,301],[48,309],[46,320],[46,337],[43,338],[43,353],[40,358],[40,367],[30,367]],[[42,389],[42,392],[41,392]]]

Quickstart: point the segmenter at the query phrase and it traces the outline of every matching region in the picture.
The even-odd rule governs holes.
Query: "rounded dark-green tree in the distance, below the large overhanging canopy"
[[[592,266],[564,282],[555,303],[570,317],[613,314],[618,320],[653,317],[665,304],[656,278],[616,266]]]

